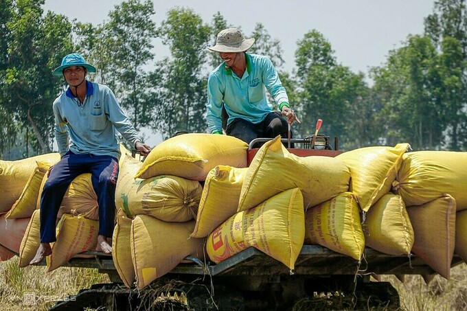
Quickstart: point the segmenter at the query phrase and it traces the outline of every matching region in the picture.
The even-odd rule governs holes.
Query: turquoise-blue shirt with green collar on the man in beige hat
[[[288,103],[286,89],[282,87],[273,63],[266,56],[246,54],[247,70],[242,77],[223,62],[207,79],[207,126],[211,133],[222,133],[222,104],[229,115],[227,124],[235,118],[253,124],[264,120],[273,110],[266,99],[266,89],[277,104]]]

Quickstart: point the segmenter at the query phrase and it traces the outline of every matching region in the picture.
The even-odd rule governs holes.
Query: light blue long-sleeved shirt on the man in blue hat
[[[87,93],[81,104],[70,89],[54,101],[55,138],[58,152],[109,155],[119,158],[117,131],[135,146],[139,141],[109,87],[86,81]],[[71,140],[71,141],[70,141]]]

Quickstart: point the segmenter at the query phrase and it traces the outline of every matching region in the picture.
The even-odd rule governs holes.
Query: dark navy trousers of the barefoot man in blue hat
[[[74,154],[69,151],[54,165],[41,196],[41,243],[55,242],[58,209],[71,181],[80,174],[91,173],[99,205],[99,235],[112,237],[115,220],[115,186],[118,160],[110,156]]]

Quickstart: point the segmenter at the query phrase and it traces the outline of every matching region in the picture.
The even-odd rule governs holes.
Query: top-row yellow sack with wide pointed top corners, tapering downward
[[[398,143],[395,147],[359,148],[337,156],[350,170],[350,191],[356,194],[363,211],[368,211],[381,196],[391,190],[402,156],[409,148],[408,143]]]

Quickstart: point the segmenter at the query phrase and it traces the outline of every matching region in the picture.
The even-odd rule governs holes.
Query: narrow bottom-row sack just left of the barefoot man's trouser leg
[[[27,224],[26,231],[19,246],[19,262],[18,266],[24,268],[29,266],[29,263],[34,258],[41,244],[41,219],[39,218],[40,209],[36,209]]]

